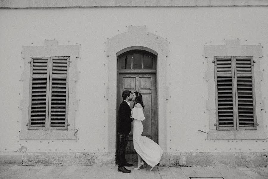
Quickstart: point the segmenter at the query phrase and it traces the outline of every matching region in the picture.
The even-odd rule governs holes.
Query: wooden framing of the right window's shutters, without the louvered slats
[[[237,74],[236,59],[250,58],[251,62],[251,74]],[[217,59],[230,59],[231,60],[231,75],[217,73]],[[233,127],[219,126],[219,108],[218,108],[218,76],[231,76],[232,77],[232,94],[233,94]],[[240,127],[238,116],[238,88],[237,88],[237,76],[251,76],[252,78],[252,98],[253,98],[253,122],[254,126]],[[215,81],[215,104],[216,104],[216,130],[257,130],[257,116],[256,116],[256,97],[255,97],[255,80],[254,80],[254,59],[253,56],[214,56],[214,81]]]

